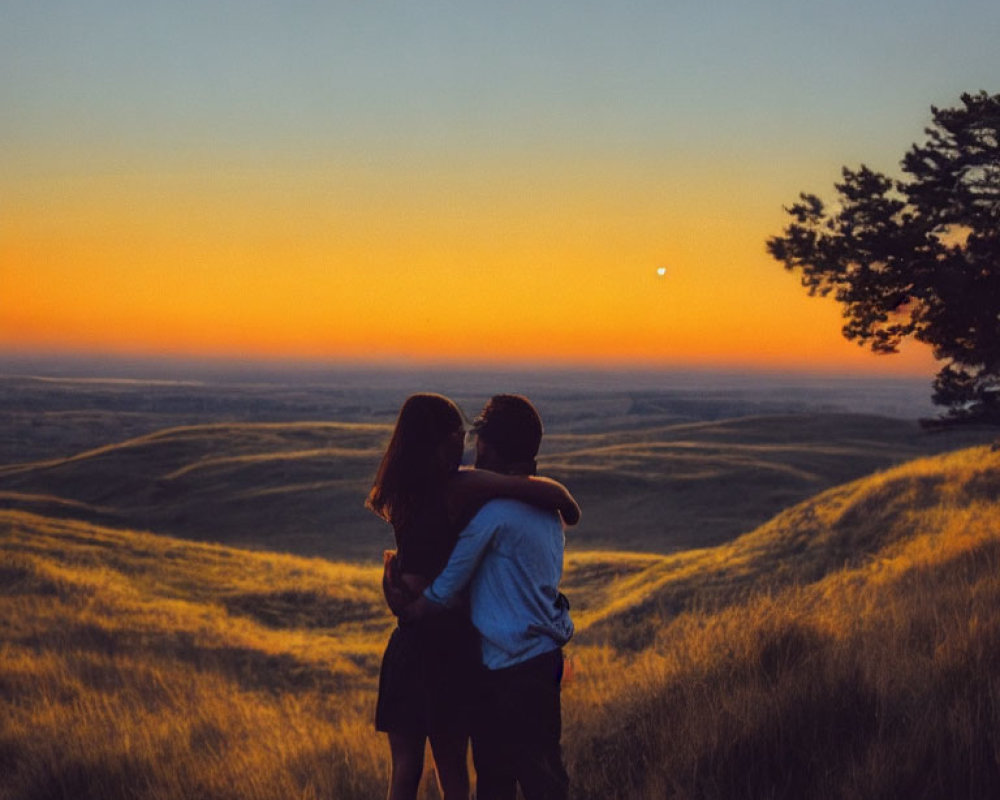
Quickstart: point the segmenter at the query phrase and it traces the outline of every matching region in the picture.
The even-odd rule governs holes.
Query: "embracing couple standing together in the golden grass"
[[[580,509],[535,476],[542,423],[520,395],[497,395],[473,423],[476,469],[460,468],[461,411],[406,400],[367,506],[393,528],[383,589],[399,624],[382,657],[375,723],[389,737],[389,800],[413,800],[429,740],[445,800],[565,800],[559,592],[563,522]]]

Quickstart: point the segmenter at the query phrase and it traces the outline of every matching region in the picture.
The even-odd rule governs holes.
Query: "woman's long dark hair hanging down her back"
[[[428,502],[440,500],[450,473],[437,459],[438,447],[463,427],[462,412],[447,397],[408,397],[365,506],[398,527]]]

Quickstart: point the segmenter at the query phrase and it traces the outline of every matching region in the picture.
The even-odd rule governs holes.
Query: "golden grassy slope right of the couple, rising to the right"
[[[577,639],[576,796],[998,796],[998,497],[961,451],[625,578]]]

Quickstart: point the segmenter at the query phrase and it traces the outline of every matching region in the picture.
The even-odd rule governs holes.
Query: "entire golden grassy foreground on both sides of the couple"
[[[998,496],[980,447],[724,546],[571,554],[574,797],[996,796]],[[377,584],[0,512],[0,800],[382,795]]]

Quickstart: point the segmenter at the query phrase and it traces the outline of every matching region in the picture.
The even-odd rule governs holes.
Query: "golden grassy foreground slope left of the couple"
[[[0,526],[0,798],[373,796],[379,570]]]

